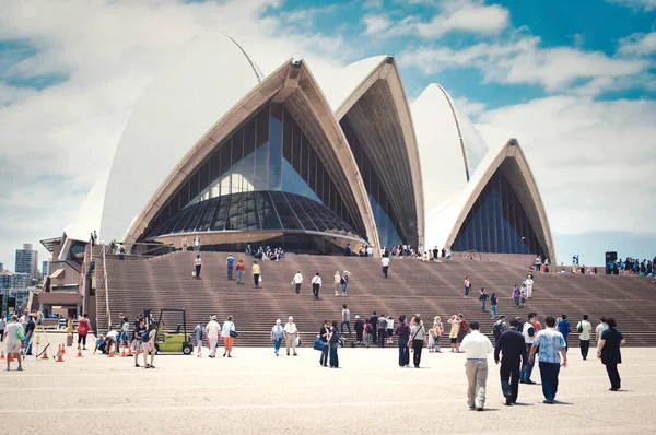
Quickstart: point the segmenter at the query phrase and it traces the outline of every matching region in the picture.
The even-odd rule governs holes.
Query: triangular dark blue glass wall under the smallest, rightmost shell
[[[497,171],[462,223],[453,250],[531,254],[546,258],[517,192],[502,169]]]

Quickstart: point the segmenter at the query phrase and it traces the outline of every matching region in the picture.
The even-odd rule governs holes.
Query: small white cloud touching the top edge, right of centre
[[[495,34],[509,24],[509,12],[499,4],[485,5],[480,1],[444,1],[441,13],[429,22],[408,16],[398,23],[389,35],[415,34],[422,38],[440,37],[448,32],[460,31]]]

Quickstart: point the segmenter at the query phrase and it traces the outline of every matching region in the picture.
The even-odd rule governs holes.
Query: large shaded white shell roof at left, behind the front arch
[[[134,105],[109,172],[98,236],[124,239],[178,162],[260,80],[253,60],[221,33],[185,44]]]

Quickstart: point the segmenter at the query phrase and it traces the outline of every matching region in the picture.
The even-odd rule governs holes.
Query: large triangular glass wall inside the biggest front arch
[[[266,191],[271,195],[255,195]],[[283,228],[305,228],[304,223],[308,231],[330,227],[324,225],[324,215],[320,225],[314,219],[312,222],[301,222],[300,217],[290,217],[296,211],[296,198],[303,197],[323,205],[323,213],[330,212],[327,221],[339,217],[340,228],[345,226],[352,234],[365,234],[362,219],[349,212],[303,129],[284,105],[269,104],[244,122],[198,166],[151,221],[145,235],[186,231],[187,223],[181,222],[186,214],[198,220],[198,223],[194,222],[195,225],[200,225],[200,222],[206,224],[199,226],[206,230],[195,231],[271,228],[269,224],[276,225],[276,219],[267,211],[266,201],[280,198],[280,192],[294,193],[289,197],[291,199],[280,203],[281,209],[276,214],[282,221],[278,225]],[[220,200],[224,197],[225,200]],[[216,205],[216,217],[208,224],[209,221],[203,220],[207,213],[199,216],[197,211],[200,210],[198,204],[209,209],[210,205],[202,202],[210,200],[213,200],[211,204]],[[292,211],[288,211],[286,207],[291,207]],[[305,202],[301,207],[305,207]],[[354,212],[358,213],[356,210]],[[304,213],[300,214],[305,219]],[[162,232],[162,226],[173,217],[179,217],[177,226],[166,227]]]

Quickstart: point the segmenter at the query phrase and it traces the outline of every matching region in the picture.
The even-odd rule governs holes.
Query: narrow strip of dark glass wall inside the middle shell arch
[[[399,230],[399,221],[394,213],[391,202],[383,187],[378,172],[366,155],[364,148],[355,137],[353,130],[349,127],[348,122],[342,120],[340,121],[340,125],[347,136],[358,167],[360,168],[360,174],[362,175],[362,180],[364,181],[364,187],[366,188],[372,205],[372,212],[374,213],[376,227],[378,228],[380,246],[391,247],[394,245],[408,243],[408,237],[400,236],[401,231]]]

